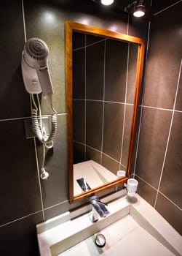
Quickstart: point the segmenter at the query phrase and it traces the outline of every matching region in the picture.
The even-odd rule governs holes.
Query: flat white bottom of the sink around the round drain
[[[144,230],[130,215],[100,231],[106,238],[106,245],[99,248],[95,245],[95,235],[72,246],[58,256],[121,256],[122,255],[175,255],[156,238]]]

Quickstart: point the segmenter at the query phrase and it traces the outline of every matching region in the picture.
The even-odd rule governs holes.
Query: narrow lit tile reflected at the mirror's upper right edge
[[[128,74],[127,74],[127,103],[130,103],[130,104],[134,103],[134,98],[135,98],[137,59],[138,59],[138,45],[130,43]]]

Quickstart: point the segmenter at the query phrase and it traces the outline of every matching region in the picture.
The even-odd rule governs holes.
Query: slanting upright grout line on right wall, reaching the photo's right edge
[[[156,199],[155,199],[155,203],[154,203],[154,208],[156,207],[156,203],[157,203],[159,188],[160,188],[160,184],[161,184],[161,181],[162,181],[162,174],[163,174],[164,167],[165,167],[165,159],[166,159],[166,156],[167,156],[167,149],[168,149],[168,145],[169,145],[169,141],[170,141],[171,129],[172,129],[172,126],[173,126],[173,118],[174,118],[174,114],[175,114],[175,111],[174,111],[175,110],[175,103],[176,103],[176,99],[177,99],[177,95],[178,95],[178,88],[179,88],[179,83],[180,83],[180,78],[181,78],[181,66],[182,66],[182,59],[181,59],[181,65],[180,65],[180,69],[179,69],[177,88],[176,88],[176,91],[175,91],[175,101],[174,101],[173,113],[172,113],[172,117],[171,117],[171,121],[170,121],[170,130],[169,130],[169,134],[168,134],[168,138],[167,138],[167,145],[166,145],[166,148],[165,148],[165,157],[164,157],[164,160],[163,160],[163,163],[162,163],[162,170],[161,170],[161,175],[160,175],[160,178],[159,178],[159,185],[158,185],[158,188],[157,188],[157,195],[156,195]]]

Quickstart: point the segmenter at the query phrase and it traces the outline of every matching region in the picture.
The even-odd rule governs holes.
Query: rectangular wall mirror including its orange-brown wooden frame
[[[70,203],[130,177],[143,58],[140,38],[66,23]]]

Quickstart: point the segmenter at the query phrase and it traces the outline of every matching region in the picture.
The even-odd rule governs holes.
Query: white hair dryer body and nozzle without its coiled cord
[[[52,104],[52,81],[47,65],[49,48],[39,38],[33,37],[25,43],[22,53],[22,74],[25,89],[29,94],[43,93]]]

